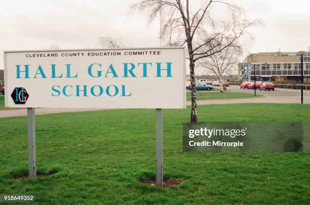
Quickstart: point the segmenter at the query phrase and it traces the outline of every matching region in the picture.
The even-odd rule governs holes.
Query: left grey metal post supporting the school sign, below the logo
[[[29,178],[36,177],[35,156],[35,113],[34,108],[27,108],[28,116],[28,168]]]

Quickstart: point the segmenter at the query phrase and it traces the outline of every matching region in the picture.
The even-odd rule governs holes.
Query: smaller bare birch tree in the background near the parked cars
[[[236,68],[241,55],[242,48],[240,46],[228,46],[222,49],[221,52],[204,58],[199,65],[216,75],[220,82],[220,92],[224,92],[223,74],[228,74],[229,71]]]

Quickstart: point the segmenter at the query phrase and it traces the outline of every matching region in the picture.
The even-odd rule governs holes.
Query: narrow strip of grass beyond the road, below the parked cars
[[[261,94],[256,94],[256,97],[262,96]],[[186,99],[190,100],[191,93],[186,92]],[[246,98],[255,97],[252,93],[245,92],[219,92],[219,91],[203,91],[197,92],[197,99],[232,99],[232,98]]]

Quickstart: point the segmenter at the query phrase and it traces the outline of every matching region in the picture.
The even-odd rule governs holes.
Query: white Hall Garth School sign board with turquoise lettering
[[[185,48],[4,52],[6,107],[184,109]]]

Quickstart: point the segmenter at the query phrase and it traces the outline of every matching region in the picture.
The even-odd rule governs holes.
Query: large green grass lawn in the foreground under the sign
[[[200,121],[310,121],[310,105],[198,106]],[[155,176],[155,111],[105,110],[36,116],[38,173],[27,174],[26,117],[0,119],[0,194],[35,194],[41,204],[309,204],[310,153],[183,153],[186,110],[163,110],[164,176]],[[92,168],[96,168],[94,170]],[[103,171],[104,170],[104,171]]]

